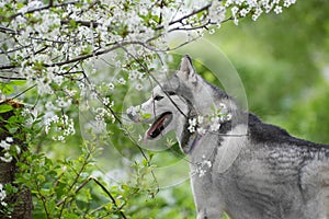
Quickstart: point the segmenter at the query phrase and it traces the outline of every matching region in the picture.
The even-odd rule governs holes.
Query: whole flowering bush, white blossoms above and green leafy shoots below
[[[155,70],[161,73],[168,68],[171,60],[168,51],[202,37],[205,31],[214,33],[230,20],[236,24],[245,16],[256,21],[262,13],[281,13],[294,3],[295,0],[2,0],[0,95],[3,100],[21,99],[27,104],[22,116],[32,130],[26,139],[31,145],[38,145],[42,139],[64,143],[77,135],[78,108],[93,115],[94,123],[88,127],[93,134],[105,130],[106,135],[113,135],[114,127],[128,132],[117,114],[123,90],[131,84],[136,91],[151,85],[148,82]],[[172,35],[180,32],[188,33],[186,39],[172,47]],[[219,128],[219,117],[215,114],[207,118],[212,131]],[[203,118],[191,120],[190,130],[204,132],[202,126],[196,126],[202,123]],[[81,201],[100,198],[89,192],[87,184],[93,182],[110,201],[102,197],[98,207],[86,204],[84,216],[100,217],[107,212],[125,217],[122,209],[139,191],[121,185],[113,187],[112,195],[87,169],[98,152],[95,146],[81,145],[81,157],[73,161],[64,159],[57,164],[43,154],[22,155],[30,164],[20,163],[25,174],[18,182],[32,188],[38,206],[35,211],[48,218],[82,215],[78,210]],[[0,147],[3,162],[10,162],[21,152],[10,137],[1,139]],[[135,165],[139,174],[136,182],[140,184],[145,174],[151,173],[151,155],[137,145],[136,148],[143,154],[143,164]],[[26,176],[31,173],[37,181]],[[2,201],[5,192],[0,186]],[[84,197],[78,194],[82,188]]]

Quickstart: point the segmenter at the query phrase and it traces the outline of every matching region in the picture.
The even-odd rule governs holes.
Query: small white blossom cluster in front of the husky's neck
[[[225,104],[220,104],[218,110],[214,111],[209,115],[198,115],[197,117],[189,118],[189,131],[197,132],[198,135],[205,135],[207,131],[214,132],[219,130],[220,124],[230,120],[231,114]]]

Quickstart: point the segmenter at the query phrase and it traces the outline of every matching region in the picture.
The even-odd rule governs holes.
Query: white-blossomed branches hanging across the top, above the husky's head
[[[1,55],[7,61],[0,70],[2,79],[24,80],[37,90],[43,97],[38,111],[47,112],[46,130],[55,124],[59,134],[54,138],[64,140],[75,134],[67,110],[84,89],[98,96],[100,85],[114,89],[125,84],[127,77],[140,81],[136,89],[141,90],[157,54],[174,49],[169,44],[173,32],[189,32],[189,43],[212,25],[219,27],[231,19],[238,23],[247,15],[257,20],[263,12],[280,13],[282,7],[293,3],[295,0],[2,1]],[[100,84],[99,79],[91,79],[98,78],[97,60],[104,54],[111,54],[106,65],[125,73]],[[2,94],[11,93],[2,90]],[[103,105],[110,102],[105,97]]]

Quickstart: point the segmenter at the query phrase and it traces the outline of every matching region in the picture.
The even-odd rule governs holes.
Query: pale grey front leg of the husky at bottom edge
[[[224,201],[208,177],[197,174],[191,177],[197,219],[220,219]]]

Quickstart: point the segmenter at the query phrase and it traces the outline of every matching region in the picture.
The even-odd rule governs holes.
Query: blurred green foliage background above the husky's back
[[[232,61],[249,110],[292,135],[329,143],[329,2],[297,1],[280,16],[245,19],[207,36]]]

